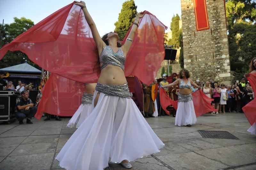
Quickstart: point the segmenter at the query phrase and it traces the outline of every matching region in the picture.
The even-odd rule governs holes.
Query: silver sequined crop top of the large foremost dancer
[[[102,64],[102,66],[100,66],[101,70],[110,64],[113,66],[121,67],[124,71],[125,57],[123,50],[119,48],[118,51],[114,53],[112,48],[106,45],[103,47],[100,54],[100,63]]]

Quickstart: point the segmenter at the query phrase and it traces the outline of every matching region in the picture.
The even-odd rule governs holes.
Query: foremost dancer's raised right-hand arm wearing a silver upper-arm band
[[[131,31],[130,31],[130,33],[129,33],[129,35],[128,35],[128,39],[125,41],[125,43],[124,43],[124,49],[123,49],[123,51],[124,51],[124,55],[126,56],[126,54],[128,53],[128,51],[130,50],[130,48],[131,48],[131,46],[132,46],[132,41],[133,41],[133,38],[134,38],[134,35],[135,35],[135,33],[136,33],[136,31],[137,31],[137,29],[138,29],[138,26],[137,25],[139,25],[139,21],[140,21],[140,19],[143,17],[145,15],[145,13],[144,14],[141,14],[141,12],[138,12],[137,13],[137,15],[136,15],[136,17],[135,17],[135,20],[134,20],[134,23],[135,24],[132,24],[132,29],[131,29]],[[137,25],[136,25],[137,24]]]

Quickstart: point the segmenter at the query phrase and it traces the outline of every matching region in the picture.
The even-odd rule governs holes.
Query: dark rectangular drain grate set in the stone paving
[[[227,131],[206,131],[198,130],[200,135],[204,138],[214,138],[214,139],[238,139],[236,136],[232,135]]]

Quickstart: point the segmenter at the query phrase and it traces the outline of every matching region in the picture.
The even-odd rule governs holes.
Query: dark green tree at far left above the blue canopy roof
[[[34,22],[30,19],[26,19],[21,17],[20,19],[14,17],[14,22],[11,24],[4,24],[3,32],[0,33],[0,36],[3,35],[2,45],[10,43],[14,38],[23,32],[27,31],[30,27],[34,26]],[[0,24],[2,28],[2,24]],[[10,67],[18,64],[25,63],[25,60],[28,60],[28,64],[36,67],[37,69],[41,69],[35,63],[31,62],[28,59],[28,56],[21,51],[8,51],[4,58],[0,60],[0,68]]]

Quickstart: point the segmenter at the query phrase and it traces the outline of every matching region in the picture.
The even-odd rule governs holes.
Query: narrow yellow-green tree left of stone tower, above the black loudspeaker
[[[175,45],[177,48],[180,47],[179,43],[179,36],[180,36],[180,16],[176,14],[176,16],[173,15],[172,22],[171,22],[171,31],[172,31],[172,38],[168,40],[168,45]]]

